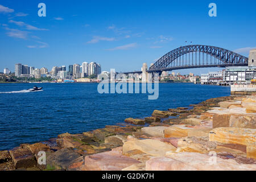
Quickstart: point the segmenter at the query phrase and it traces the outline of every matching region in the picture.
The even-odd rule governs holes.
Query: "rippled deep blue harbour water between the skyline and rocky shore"
[[[159,84],[158,100],[148,100],[147,94],[99,94],[93,83],[37,84],[43,91],[27,92],[32,86],[0,84],[0,150],[230,95],[229,87],[183,83]]]

